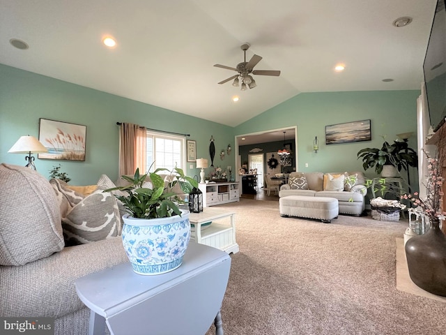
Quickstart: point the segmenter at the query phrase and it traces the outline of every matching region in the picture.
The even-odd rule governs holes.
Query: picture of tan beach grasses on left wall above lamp
[[[85,161],[86,126],[40,119],[39,141],[48,152],[38,158]]]

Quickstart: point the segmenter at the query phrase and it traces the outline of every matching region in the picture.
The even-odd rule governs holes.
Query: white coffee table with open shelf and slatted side
[[[205,207],[200,213],[190,213],[189,221],[195,225],[190,238],[226,253],[238,253],[235,216],[234,211],[216,207]],[[201,228],[202,224],[210,221],[212,223],[206,229]]]

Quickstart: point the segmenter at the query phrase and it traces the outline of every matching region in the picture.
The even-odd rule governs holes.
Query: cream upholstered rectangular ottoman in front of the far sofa
[[[335,198],[289,195],[279,199],[279,211],[284,217],[314,218],[330,223],[339,214],[339,204]]]

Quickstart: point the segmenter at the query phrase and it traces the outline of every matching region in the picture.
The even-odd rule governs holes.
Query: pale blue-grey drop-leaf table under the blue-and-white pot
[[[190,241],[183,264],[155,276],[134,273],[130,262],[77,279],[77,295],[91,309],[89,334],[205,334],[213,320],[223,335],[220,306],[231,258]],[[217,316],[216,316],[217,315]]]

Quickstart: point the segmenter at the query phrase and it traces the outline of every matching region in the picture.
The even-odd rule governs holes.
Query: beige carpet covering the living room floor
[[[282,218],[278,202],[246,199],[219,207],[236,211],[240,246],[225,335],[446,334],[446,304],[397,290],[396,241],[407,222]]]

